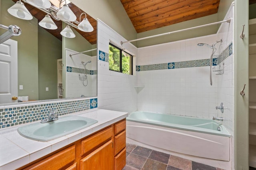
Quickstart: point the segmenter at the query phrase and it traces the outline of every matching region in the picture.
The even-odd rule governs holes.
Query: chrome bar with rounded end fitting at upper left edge
[[[10,39],[12,36],[19,36],[21,34],[20,27],[16,25],[10,25],[9,27],[0,24],[0,28],[7,29],[2,35],[0,35],[0,44]]]

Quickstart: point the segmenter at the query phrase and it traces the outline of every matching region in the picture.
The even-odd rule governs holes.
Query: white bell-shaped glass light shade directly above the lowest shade
[[[57,12],[57,17],[62,21],[75,21],[76,15],[70,10],[68,5],[64,4]]]

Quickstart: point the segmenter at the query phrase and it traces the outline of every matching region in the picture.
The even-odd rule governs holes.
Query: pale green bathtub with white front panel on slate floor
[[[217,121],[141,111],[130,113],[126,120],[128,141],[190,156],[230,161],[230,133]]]

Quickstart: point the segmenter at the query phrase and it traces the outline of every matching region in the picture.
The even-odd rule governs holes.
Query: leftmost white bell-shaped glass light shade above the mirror
[[[12,16],[20,18],[22,20],[32,20],[33,19],[33,16],[27,10],[27,8],[24,6],[24,4],[20,1],[17,1],[16,4],[11,6],[7,11]]]

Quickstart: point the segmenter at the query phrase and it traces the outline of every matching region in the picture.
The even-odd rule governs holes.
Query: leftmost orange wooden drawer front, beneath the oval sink
[[[25,170],[57,170],[60,169],[76,158],[76,146],[72,145],[40,162],[25,168]]]

